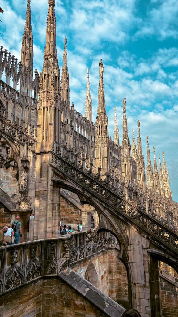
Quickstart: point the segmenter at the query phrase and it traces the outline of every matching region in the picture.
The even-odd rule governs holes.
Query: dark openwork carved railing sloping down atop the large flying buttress
[[[52,151],[50,164],[75,184],[85,188],[93,199],[97,198],[101,204],[106,204],[114,215],[135,223],[161,248],[169,247],[178,253],[178,230],[173,213],[166,211],[166,217],[160,217],[153,208],[151,197],[133,182],[125,183],[109,175],[102,179],[100,168],[97,174],[93,173],[92,161],[86,165],[85,158],[79,160],[78,155],[70,149],[66,150],[65,146],[61,146],[58,152]]]

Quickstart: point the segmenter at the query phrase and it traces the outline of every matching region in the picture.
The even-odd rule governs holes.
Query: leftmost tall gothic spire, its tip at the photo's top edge
[[[29,71],[29,85],[27,88],[30,89],[33,80],[33,34],[31,28],[30,0],[27,0],[25,29],[22,37],[21,62],[22,72],[24,70]]]

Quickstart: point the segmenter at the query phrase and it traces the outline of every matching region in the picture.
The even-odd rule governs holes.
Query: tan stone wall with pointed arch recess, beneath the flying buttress
[[[106,250],[93,256],[90,261],[84,260],[78,263],[73,270],[127,308],[129,305],[127,271],[117,256],[118,250]]]

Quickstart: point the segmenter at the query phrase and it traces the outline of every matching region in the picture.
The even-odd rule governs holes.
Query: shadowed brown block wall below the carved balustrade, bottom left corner
[[[0,298],[3,317],[107,316],[60,278],[41,279]]]

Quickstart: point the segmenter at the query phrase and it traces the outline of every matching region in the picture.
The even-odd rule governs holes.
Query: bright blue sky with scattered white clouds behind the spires
[[[0,44],[20,60],[25,23],[25,0],[1,0],[4,10]],[[41,71],[45,46],[48,0],[31,0],[34,68]],[[178,1],[177,0],[56,0],[57,49],[62,69],[67,36],[70,101],[84,114],[86,72],[90,68],[93,121],[98,106],[98,63],[104,63],[104,87],[109,133],[113,138],[117,105],[122,143],[122,100],[130,141],[137,138],[137,120],[143,154],[149,135],[153,146],[165,151],[173,199],[178,201]],[[157,164],[158,165],[158,164]]]

